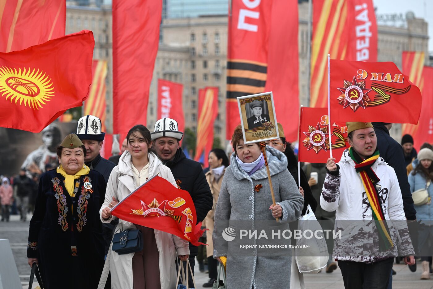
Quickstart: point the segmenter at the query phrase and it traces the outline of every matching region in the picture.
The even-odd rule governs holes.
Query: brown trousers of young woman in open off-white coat
[[[143,234],[143,250],[132,257],[132,282],[134,289],[161,289],[159,253],[155,231],[136,225]]]

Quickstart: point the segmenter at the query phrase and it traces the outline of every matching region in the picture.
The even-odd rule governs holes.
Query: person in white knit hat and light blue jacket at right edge
[[[409,174],[410,192],[413,194],[416,190],[426,189],[428,193],[428,200],[426,204],[417,206],[417,217],[423,220],[425,224],[424,230],[420,231],[418,236],[418,248],[420,251],[431,252],[429,250],[432,246],[429,245],[433,240],[433,205],[431,200],[433,198],[433,151],[430,148],[423,148],[418,153],[418,164],[414,170]],[[419,256],[417,254],[417,256]],[[430,266],[432,256],[422,256],[421,265],[423,266],[423,273],[421,279],[430,279]]]

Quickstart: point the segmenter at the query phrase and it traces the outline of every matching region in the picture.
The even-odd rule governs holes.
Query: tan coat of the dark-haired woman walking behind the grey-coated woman
[[[206,256],[211,257],[213,255],[213,243],[212,243],[212,232],[213,232],[213,223],[215,220],[215,208],[216,208],[216,201],[218,200],[218,196],[220,195],[220,189],[221,184],[223,183],[223,176],[226,169],[224,168],[223,174],[218,179],[218,181],[215,180],[212,174],[212,170],[208,171],[206,176],[206,181],[209,184],[210,191],[212,193],[213,197],[213,206],[212,210],[207,213],[206,218],[204,218],[204,226],[206,229],[209,229],[206,231],[206,243],[208,246],[206,246]]]

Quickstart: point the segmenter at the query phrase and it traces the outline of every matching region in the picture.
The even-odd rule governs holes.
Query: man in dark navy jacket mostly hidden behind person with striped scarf
[[[403,198],[404,215],[408,221],[417,220],[417,211],[415,210],[414,200],[412,199],[412,194],[410,193],[410,185],[407,181],[407,171],[403,150],[401,149],[401,145],[389,135],[389,130],[392,127],[392,123],[373,122],[372,124],[375,129],[377,148],[379,149],[380,156],[388,163],[389,166],[394,168],[395,174],[397,175],[398,184],[400,185],[401,190],[401,197]],[[418,244],[418,231],[416,225],[417,222],[407,223],[415,252],[417,252]],[[416,264],[410,266],[410,269],[416,270]]]

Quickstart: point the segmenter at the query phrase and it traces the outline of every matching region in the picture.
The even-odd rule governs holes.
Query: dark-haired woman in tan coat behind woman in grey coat
[[[204,223],[206,225],[206,256],[207,256],[207,266],[209,268],[209,281],[203,284],[204,288],[211,288],[213,282],[216,281],[218,275],[217,265],[218,261],[213,259],[213,242],[212,242],[212,232],[213,223],[215,221],[215,209],[218,201],[218,196],[220,195],[221,184],[223,183],[224,172],[226,167],[229,166],[229,159],[226,153],[220,148],[214,148],[209,153],[209,168],[210,170],[205,174],[206,181],[209,184],[210,191],[213,196],[213,206],[212,210],[207,213]]]

